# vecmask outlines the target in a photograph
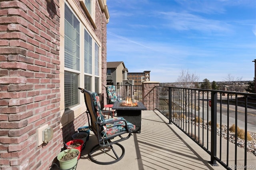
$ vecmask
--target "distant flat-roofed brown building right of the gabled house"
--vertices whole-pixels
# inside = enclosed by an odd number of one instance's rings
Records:
[[[150,81],[150,71],[127,73],[129,80],[134,80],[134,85],[142,85],[143,81]]]

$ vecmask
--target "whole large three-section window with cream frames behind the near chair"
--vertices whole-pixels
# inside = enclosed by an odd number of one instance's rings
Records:
[[[92,1],[86,0],[91,11]],[[78,87],[100,93],[100,43],[96,33],[86,30],[75,12],[65,3],[64,7],[64,107],[65,110],[80,103]],[[99,45],[98,45],[99,44]],[[75,110],[76,107],[73,109]]]

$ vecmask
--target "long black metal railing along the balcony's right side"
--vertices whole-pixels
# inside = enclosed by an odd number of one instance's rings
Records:
[[[255,93],[160,86],[155,88],[158,94],[154,99],[156,109],[206,150],[211,156],[212,165],[216,165],[217,161],[226,169],[249,167],[249,131],[254,130],[255,133],[256,129]],[[231,125],[234,126],[234,133],[229,130]],[[244,136],[239,136],[240,132]],[[229,142],[233,138],[234,141]],[[244,138],[242,152],[241,149],[238,152],[240,138]]]

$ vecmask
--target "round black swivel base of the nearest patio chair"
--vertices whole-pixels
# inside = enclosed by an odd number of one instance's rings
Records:
[[[96,163],[96,164],[101,164],[101,165],[109,165],[109,164],[114,164],[114,163],[118,162],[119,160],[121,160],[121,159],[124,157],[124,146],[122,146],[122,145],[119,144],[119,143],[116,143],[116,144],[113,144],[113,145],[117,145],[117,146],[119,146],[119,147],[122,149],[122,154],[121,154],[121,155],[118,156],[118,154],[116,153],[116,151],[115,151],[115,149],[113,148],[112,145],[110,145],[110,150],[113,151],[115,157],[114,157],[113,155],[110,155],[110,154],[108,153],[108,152],[110,152],[110,151],[104,152],[104,148],[101,147],[99,144],[97,144],[96,146],[94,146],[94,147],[92,148],[92,150],[91,150],[90,153],[88,154],[90,160],[91,160],[92,162]],[[101,150],[101,151],[100,151],[100,150]],[[99,151],[99,152],[97,152],[97,151]],[[95,152],[97,152],[97,153],[95,153]],[[95,154],[94,154],[94,153],[95,153]],[[94,154],[94,155],[93,155],[93,154]],[[101,161],[98,161],[98,160],[96,160],[95,158],[93,158],[93,157],[98,156],[98,155],[100,155],[100,154],[107,154],[108,156],[110,156],[110,157],[111,157],[112,159],[114,159],[114,160],[109,161],[109,162],[101,162]]]

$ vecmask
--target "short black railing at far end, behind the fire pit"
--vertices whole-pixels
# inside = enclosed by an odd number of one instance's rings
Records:
[[[142,102],[141,85],[115,85],[116,95],[120,99],[132,99],[134,102]]]

